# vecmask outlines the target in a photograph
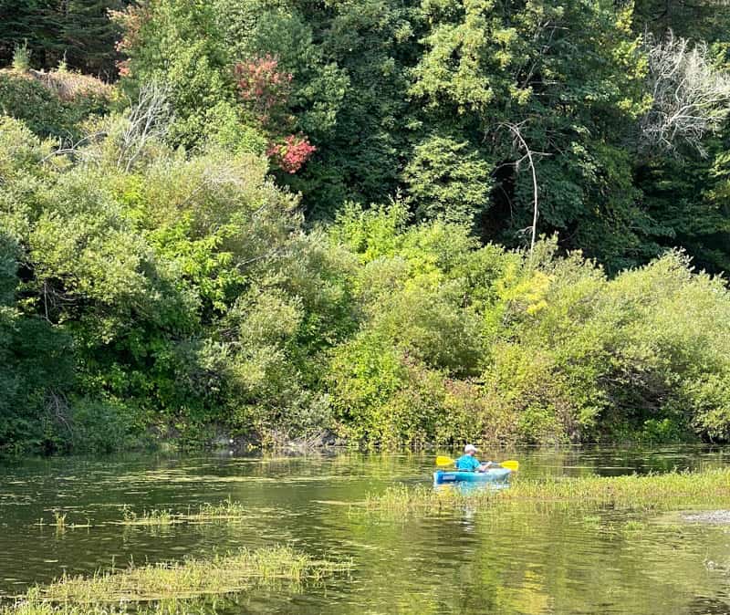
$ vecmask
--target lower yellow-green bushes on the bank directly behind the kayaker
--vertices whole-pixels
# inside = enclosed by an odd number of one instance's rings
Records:
[[[350,209],[332,230],[364,262],[352,281],[360,333],[328,377],[346,433],[391,444],[727,437],[721,279],[679,253],[609,279],[554,241],[532,255],[474,249],[463,227],[407,228],[397,212]]]

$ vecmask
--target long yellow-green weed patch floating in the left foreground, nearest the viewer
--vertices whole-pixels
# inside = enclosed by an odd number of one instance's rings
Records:
[[[191,599],[233,593],[252,585],[321,581],[350,568],[349,562],[310,558],[289,547],[241,549],[208,559],[99,571],[90,577],[65,575],[50,585],[31,589],[24,604],[30,608],[47,602],[78,605]]]

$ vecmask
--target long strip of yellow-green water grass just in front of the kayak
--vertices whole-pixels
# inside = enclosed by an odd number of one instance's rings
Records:
[[[434,490],[425,486],[396,486],[381,495],[369,495],[361,509],[398,515],[427,515],[465,507],[474,509],[516,503],[568,504],[580,508],[614,506],[637,510],[730,503],[730,468],[698,473],[517,480],[508,489],[501,490]]]

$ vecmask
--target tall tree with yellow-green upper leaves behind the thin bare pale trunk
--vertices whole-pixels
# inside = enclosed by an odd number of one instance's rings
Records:
[[[422,11],[429,28],[411,91],[424,104],[424,121],[452,126],[496,161],[483,235],[515,244],[533,226],[532,178],[514,164],[524,147],[499,130],[519,125],[538,154],[537,231],[557,230],[563,245],[611,268],[641,257],[645,215],[623,147],[645,107],[631,11],[568,2],[504,12],[487,0],[423,2]]]

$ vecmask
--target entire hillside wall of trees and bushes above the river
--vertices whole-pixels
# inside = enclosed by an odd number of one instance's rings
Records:
[[[4,3],[0,449],[730,439],[730,20],[664,6]]]

